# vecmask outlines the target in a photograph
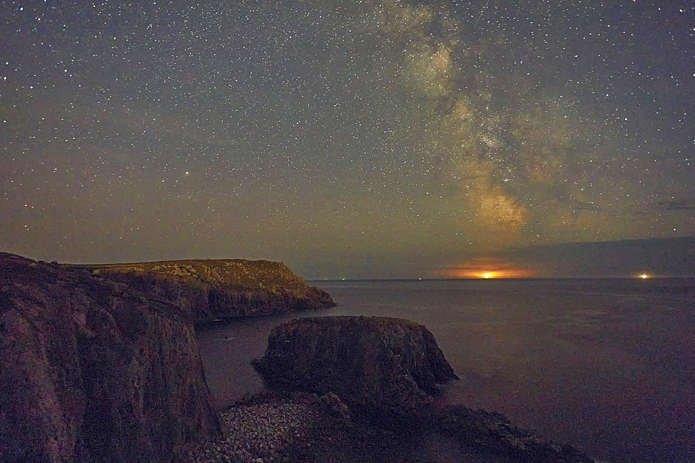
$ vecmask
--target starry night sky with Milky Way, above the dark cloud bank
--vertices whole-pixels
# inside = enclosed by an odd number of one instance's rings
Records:
[[[0,250],[429,278],[692,236],[694,101],[690,0],[3,0]]]

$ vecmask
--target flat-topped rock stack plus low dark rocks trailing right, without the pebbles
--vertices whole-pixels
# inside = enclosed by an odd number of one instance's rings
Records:
[[[306,446],[307,461],[592,462],[501,414],[443,403],[440,393],[458,378],[432,333],[411,321],[295,319],[273,328],[253,364],[279,394],[336,394],[358,420],[352,428],[345,414],[323,423],[343,431]]]

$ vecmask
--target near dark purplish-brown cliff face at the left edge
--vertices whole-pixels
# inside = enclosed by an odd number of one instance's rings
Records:
[[[184,310],[5,253],[0,385],[3,462],[184,461],[220,432]]]

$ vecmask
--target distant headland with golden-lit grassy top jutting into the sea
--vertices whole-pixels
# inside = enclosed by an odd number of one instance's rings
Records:
[[[268,260],[204,259],[68,266],[130,287],[180,308],[195,323],[334,307],[285,264]]]

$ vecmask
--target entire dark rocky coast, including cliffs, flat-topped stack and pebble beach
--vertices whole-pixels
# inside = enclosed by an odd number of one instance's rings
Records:
[[[278,326],[254,362],[269,392],[217,411],[196,323],[332,305],[278,262],[0,253],[1,460],[591,461],[442,401],[457,376],[427,328],[400,319]]]

